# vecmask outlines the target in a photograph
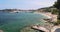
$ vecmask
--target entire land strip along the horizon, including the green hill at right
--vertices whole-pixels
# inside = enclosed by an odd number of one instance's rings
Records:
[[[51,12],[52,14],[57,14],[58,13],[58,10],[51,6],[51,7],[44,7],[44,8],[39,8],[39,9],[32,9],[32,10],[22,10],[22,9],[3,9],[3,10],[0,10],[0,11],[3,11],[3,12],[14,12],[14,11],[38,11],[38,12]]]

